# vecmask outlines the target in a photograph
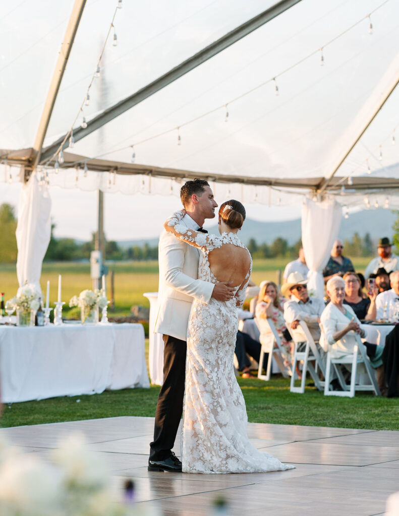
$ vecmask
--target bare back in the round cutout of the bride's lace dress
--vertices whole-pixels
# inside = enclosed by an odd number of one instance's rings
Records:
[[[231,281],[239,286],[245,280],[251,265],[247,249],[233,244],[223,244],[208,254],[210,270],[218,281]]]

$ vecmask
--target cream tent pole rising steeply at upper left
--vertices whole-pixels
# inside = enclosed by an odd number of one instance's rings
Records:
[[[36,134],[35,144],[33,146],[33,168],[35,169],[40,161],[42,146],[45,134],[49,127],[50,118],[54,109],[54,104],[57,99],[59,87],[63,80],[65,68],[72,50],[72,44],[75,39],[76,31],[78,30],[80,20],[82,18],[83,10],[85,8],[86,0],[75,0],[72,9],[71,17],[69,19],[68,27],[64,36],[64,41],[61,45],[61,50],[58,55],[57,63],[51,80],[47,99],[45,100],[44,108],[41,114],[39,127]]]

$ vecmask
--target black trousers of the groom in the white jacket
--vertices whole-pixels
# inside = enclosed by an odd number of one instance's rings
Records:
[[[187,342],[169,335],[163,335],[163,341],[163,385],[155,413],[150,460],[164,460],[169,457],[183,412]]]

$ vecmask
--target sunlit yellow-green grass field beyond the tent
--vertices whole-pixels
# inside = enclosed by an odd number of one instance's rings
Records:
[[[369,258],[352,260],[356,270],[363,272]],[[263,280],[277,280],[277,271],[284,270],[286,259],[255,260],[252,278],[259,284]],[[143,296],[144,292],[158,291],[158,262],[123,262],[108,263],[109,270],[115,275],[115,312],[113,315],[129,315],[130,307],[141,304],[149,307],[149,301]],[[45,292],[47,280],[50,280],[51,303],[56,300],[58,274],[63,276],[63,300],[66,302],[64,313],[69,310],[69,299],[79,294],[85,288],[91,288],[89,264],[60,262],[43,265],[41,276],[42,291]],[[107,288],[109,290],[109,277]],[[18,288],[16,267],[12,264],[0,264],[0,289],[5,292],[5,299],[15,295]],[[76,309],[75,309],[76,310]]]

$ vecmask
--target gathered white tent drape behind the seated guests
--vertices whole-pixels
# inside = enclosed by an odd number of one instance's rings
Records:
[[[321,272],[327,265],[332,244],[338,236],[342,206],[335,200],[312,201],[302,205],[302,245],[309,267],[308,289],[317,297],[324,296],[324,279]]]

